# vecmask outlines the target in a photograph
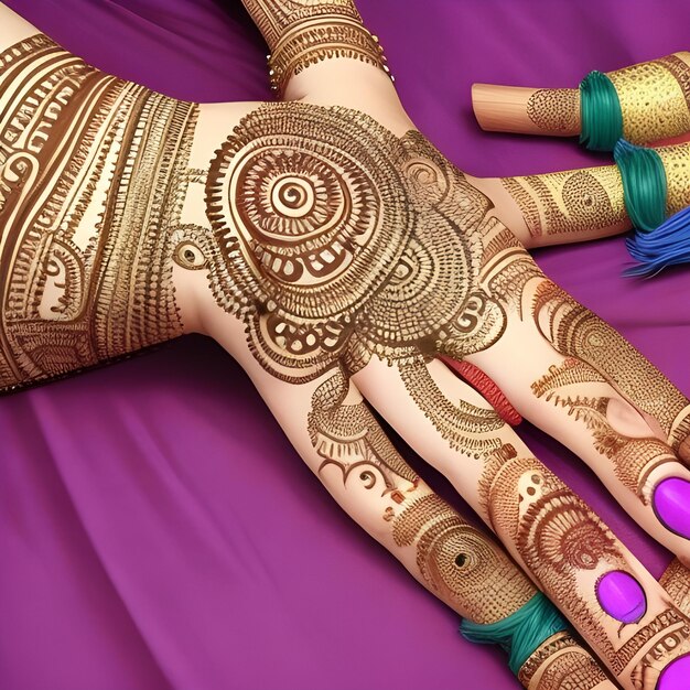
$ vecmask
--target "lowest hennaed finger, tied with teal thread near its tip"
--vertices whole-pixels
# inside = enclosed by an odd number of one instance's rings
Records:
[[[295,449],[338,505],[427,590],[479,626],[522,608],[537,590],[505,551],[438,496],[390,443],[356,387],[339,370],[312,384],[254,371]],[[568,672],[582,688],[613,688],[567,630],[537,639],[520,664],[525,687]],[[560,659],[560,660],[559,660]],[[546,682],[546,681],[545,681]]]

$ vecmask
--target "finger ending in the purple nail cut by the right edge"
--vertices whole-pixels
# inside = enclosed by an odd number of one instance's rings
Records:
[[[676,505],[690,506],[682,493],[690,470],[597,369],[556,352],[527,325],[509,324],[498,343],[470,359],[520,414],[587,463],[640,527],[690,563],[690,516]]]

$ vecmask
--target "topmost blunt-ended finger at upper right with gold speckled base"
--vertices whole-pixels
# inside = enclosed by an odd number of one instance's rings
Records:
[[[690,53],[673,53],[606,73],[622,116],[622,132],[634,143],[659,141],[690,130]],[[586,96],[585,96],[586,97]],[[578,88],[517,88],[475,84],[472,103],[482,129],[572,137],[582,133]],[[596,117],[602,117],[596,110]],[[614,138],[614,143],[615,143]],[[613,148],[613,147],[612,147]]]

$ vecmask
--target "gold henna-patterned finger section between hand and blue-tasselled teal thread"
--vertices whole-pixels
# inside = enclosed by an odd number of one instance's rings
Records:
[[[623,182],[615,165],[502,177],[532,237],[585,233],[627,219]]]

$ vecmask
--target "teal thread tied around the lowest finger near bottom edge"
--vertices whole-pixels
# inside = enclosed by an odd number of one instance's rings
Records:
[[[565,618],[541,592],[503,621],[482,625],[464,618],[460,624],[465,639],[479,645],[499,645],[505,649],[509,655],[508,666],[516,676],[539,645],[567,629]]]

